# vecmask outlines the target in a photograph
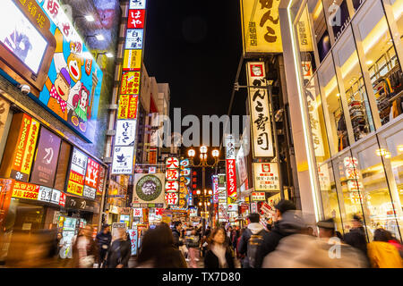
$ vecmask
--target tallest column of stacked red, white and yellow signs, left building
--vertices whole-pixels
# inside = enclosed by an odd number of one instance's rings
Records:
[[[146,0],[131,0],[124,42],[112,174],[132,174],[135,153],[137,105],[141,88],[141,64]]]

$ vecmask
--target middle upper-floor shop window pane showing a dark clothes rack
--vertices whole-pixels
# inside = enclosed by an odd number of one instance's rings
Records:
[[[354,139],[357,141],[375,129],[351,28],[335,46],[333,55],[340,69],[340,88],[344,88],[346,94]]]

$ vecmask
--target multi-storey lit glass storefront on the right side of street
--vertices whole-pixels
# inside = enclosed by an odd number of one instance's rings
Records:
[[[347,233],[359,214],[369,241],[402,234],[402,13],[403,0],[307,0],[293,19],[322,216]]]

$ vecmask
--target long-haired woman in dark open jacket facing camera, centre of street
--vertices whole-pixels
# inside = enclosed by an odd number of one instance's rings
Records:
[[[226,231],[223,228],[211,232],[204,268],[235,268],[234,257],[226,241]]]

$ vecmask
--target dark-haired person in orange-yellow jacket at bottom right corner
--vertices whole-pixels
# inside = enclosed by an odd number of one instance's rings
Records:
[[[403,268],[399,250],[390,244],[390,231],[376,229],[368,244],[368,257],[373,268]]]

